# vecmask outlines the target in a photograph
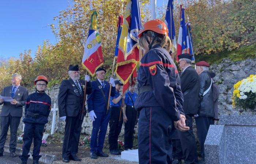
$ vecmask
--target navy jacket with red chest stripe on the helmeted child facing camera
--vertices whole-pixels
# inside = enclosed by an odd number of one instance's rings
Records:
[[[25,105],[25,118],[23,122],[46,124],[51,111],[51,98],[46,93],[32,93],[29,95]],[[39,114],[38,118],[31,117],[27,111]]]

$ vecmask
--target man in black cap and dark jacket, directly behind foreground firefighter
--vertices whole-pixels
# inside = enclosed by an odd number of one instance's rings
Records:
[[[192,55],[181,54],[178,56],[181,73],[181,90],[184,96],[183,110],[186,114],[186,125],[189,130],[185,132],[178,131],[185,164],[194,164],[197,162],[196,141],[193,133],[193,116],[197,114],[199,80],[196,70],[191,66]],[[181,161],[180,161],[181,163]]]

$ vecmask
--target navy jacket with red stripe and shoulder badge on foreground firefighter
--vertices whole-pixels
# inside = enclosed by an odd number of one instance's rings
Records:
[[[138,71],[138,87],[150,85],[153,90],[139,93],[135,101],[136,110],[161,106],[173,121],[179,120],[184,111],[183,95],[177,79],[178,71],[169,52],[156,44],[143,56]]]

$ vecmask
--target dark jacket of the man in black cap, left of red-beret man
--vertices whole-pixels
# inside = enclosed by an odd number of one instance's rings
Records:
[[[181,73],[181,90],[184,96],[183,110],[186,114],[197,114],[199,80],[196,70],[189,66]]]

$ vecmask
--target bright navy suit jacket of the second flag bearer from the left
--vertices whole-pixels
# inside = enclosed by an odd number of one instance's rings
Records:
[[[91,82],[92,90],[91,94],[89,94],[87,97],[87,108],[89,112],[91,110],[94,110],[94,112],[103,113],[106,112],[107,109],[106,102],[108,102],[110,85],[109,82],[104,80],[105,89],[102,88],[105,93],[104,100],[104,97],[101,93],[101,90],[99,89],[97,81],[98,79],[96,79],[96,81]],[[110,96],[114,97],[115,92],[116,87],[112,87]]]

